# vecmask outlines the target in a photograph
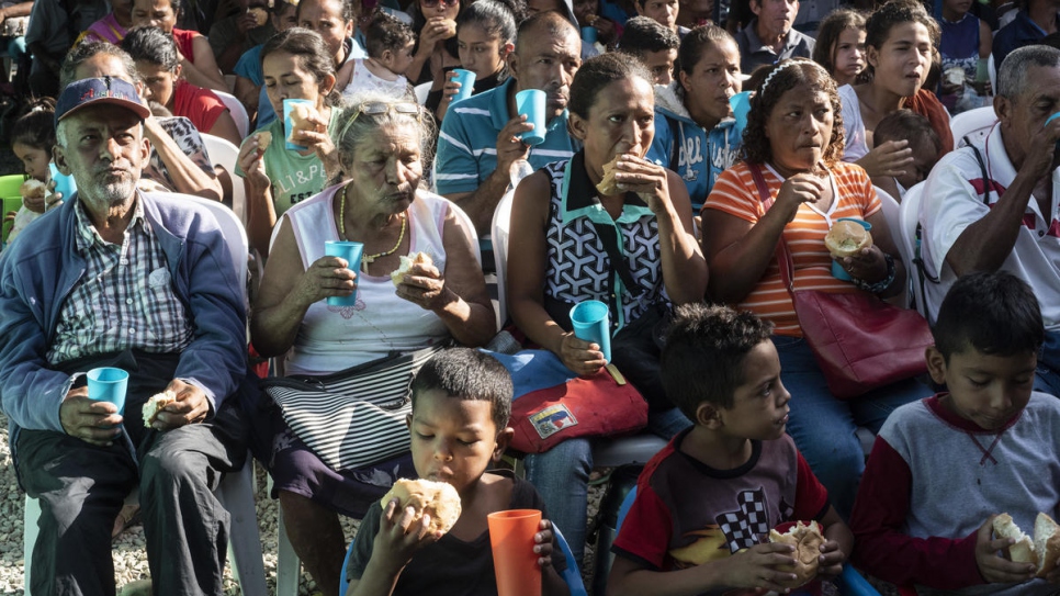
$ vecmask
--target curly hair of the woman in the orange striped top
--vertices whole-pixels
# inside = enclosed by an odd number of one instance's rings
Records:
[[[817,63],[808,58],[792,58],[777,63],[755,88],[751,98],[751,113],[744,130],[743,160],[748,164],[765,164],[773,160],[773,147],[766,137],[766,121],[785,92],[800,85],[808,85],[812,91],[824,91],[832,103],[832,138],[824,149],[825,165],[832,167],[843,157],[843,109],[835,80]]]

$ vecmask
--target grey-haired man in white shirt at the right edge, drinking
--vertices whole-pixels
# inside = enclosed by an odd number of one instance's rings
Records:
[[[1060,119],[1046,124],[1060,112],[1060,50],[1035,45],[1010,54],[994,111],[999,122],[985,142],[945,156],[926,181],[920,223],[928,319],[958,277],[1012,272],[1034,289],[1046,324],[1035,389],[1060,395]]]

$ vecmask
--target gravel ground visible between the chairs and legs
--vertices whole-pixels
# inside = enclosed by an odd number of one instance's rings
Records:
[[[266,580],[269,594],[275,594],[277,575],[277,507],[278,502],[268,498],[264,487],[264,473],[258,468],[259,480],[255,495],[258,504],[258,530],[261,533],[262,551],[264,552]],[[23,596],[23,558],[22,558],[22,509],[25,495],[18,490],[14,466],[11,463],[11,452],[8,448],[8,419],[0,415],[0,595]],[[590,518],[597,513],[604,491],[599,486],[590,486],[588,510]],[[357,529],[357,521],[343,518],[347,539],[352,539]],[[137,580],[150,577],[147,566],[147,554],[144,551],[144,528],[134,526],[114,541],[112,549],[114,558],[114,574],[117,586],[124,586]],[[586,570],[593,570],[594,552],[591,546],[586,548],[583,575]],[[225,571],[225,594],[241,594],[230,569]],[[873,582],[883,596],[897,595],[893,587]],[[591,586],[591,578],[586,577],[586,586]],[[302,575],[298,591],[301,596],[315,593],[315,585],[307,575]],[[253,595],[259,596],[259,595]],[[267,596],[267,595],[260,595]]]

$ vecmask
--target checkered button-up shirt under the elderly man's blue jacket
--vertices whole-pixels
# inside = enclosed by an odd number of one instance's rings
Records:
[[[143,200],[136,199],[121,245],[103,240],[81,203],[75,205],[75,238],[86,270],[63,304],[48,362],[129,348],[179,352],[191,344],[191,322],[173,293]]]

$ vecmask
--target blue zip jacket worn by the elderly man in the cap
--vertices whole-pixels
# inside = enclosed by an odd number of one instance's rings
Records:
[[[210,212],[179,194],[139,193],[139,200],[194,326],[174,376],[202,389],[216,413],[246,375],[244,282]],[[67,201],[44,214],[0,252],[0,409],[12,446],[20,428],[64,431],[59,405],[80,375],[52,370],[46,360],[63,303],[86,270],[74,206]]]

